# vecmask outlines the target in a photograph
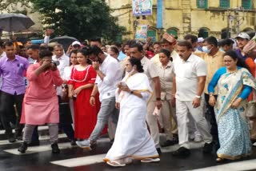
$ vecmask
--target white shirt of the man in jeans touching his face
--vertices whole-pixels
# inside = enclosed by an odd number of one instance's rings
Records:
[[[98,85],[99,100],[114,97],[117,84],[122,80],[122,70],[118,61],[107,55],[99,70],[106,75],[102,79],[97,75],[95,84]]]

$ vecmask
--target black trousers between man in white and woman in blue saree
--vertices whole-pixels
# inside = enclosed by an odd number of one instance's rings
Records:
[[[217,99],[217,96],[214,96]],[[213,136],[213,141],[218,142],[218,125],[214,113],[214,107],[209,104],[209,94],[205,93],[206,99],[206,119],[210,121],[210,134]]]

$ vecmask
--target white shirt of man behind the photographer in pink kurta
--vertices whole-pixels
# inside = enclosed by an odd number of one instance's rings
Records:
[[[59,74],[61,75],[62,79],[64,79],[64,69],[66,66],[70,66],[70,58],[65,54],[63,54],[60,58],[56,58],[56,55],[54,55],[52,59],[54,61],[59,62],[59,65],[57,66],[57,68],[59,70]],[[57,90],[57,95],[62,96],[62,86],[58,86],[56,90]]]

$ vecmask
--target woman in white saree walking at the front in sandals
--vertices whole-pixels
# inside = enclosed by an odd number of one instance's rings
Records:
[[[146,126],[146,103],[151,97],[150,82],[136,58],[126,63],[129,73],[118,84],[116,107],[120,107],[114,144],[104,161],[112,166],[125,166],[133,159],[160,161],[154,141]]]

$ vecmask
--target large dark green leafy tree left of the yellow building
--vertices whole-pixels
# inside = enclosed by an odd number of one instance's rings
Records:
[[[125,29],[115,24],[104,0],[30,0],[42,14],[42,24],[80,40],[103,37],[114,40]]]

